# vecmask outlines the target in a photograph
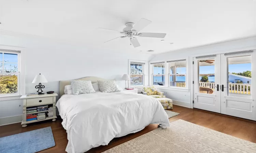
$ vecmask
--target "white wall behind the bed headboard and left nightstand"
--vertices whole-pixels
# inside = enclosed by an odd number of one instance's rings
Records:
[[[49,87],[46,91],[59,94],[59,81],[72,80],[88,76],[105,79],[120,79],[128,73],[128,60],[148,61],[149,54],[140,52],[119,52],[104,48],[88,48],[77,45],[67,45],[52,39],[28,35],[1,35],[1,45],[25,47],[26,56],[26,94],[37,90],[32,84],[36,74],[44,74]],[[125,87],[125,81],[120,81],[120,87]],[[57,97],[58,100],[59,97]],[[8,100],[0,102],[0,118],[22,115],[22,101]]]

